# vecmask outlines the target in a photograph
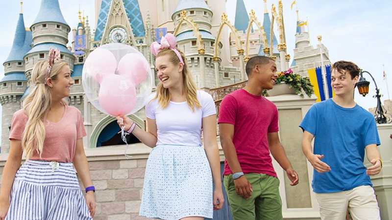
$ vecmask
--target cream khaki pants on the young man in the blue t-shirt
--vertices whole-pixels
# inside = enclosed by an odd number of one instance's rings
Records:
[[[374,189],[358,186],[337,193],[316,193],[321,220],[343,220],[348,211],[353,220],[380,220]]]

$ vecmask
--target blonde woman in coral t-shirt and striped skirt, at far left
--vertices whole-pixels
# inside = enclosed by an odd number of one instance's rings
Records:
[[[86,132],[80,111],[65,99],[73,79],[59,50],[51,48],[49,59],[34,66],[31,81],[34,87],[11,122],[0,220],[92,220],[95,189],[83,149]]]

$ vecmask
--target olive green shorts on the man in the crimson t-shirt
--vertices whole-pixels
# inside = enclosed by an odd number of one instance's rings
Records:
[[[223,176],[233,220],[283,220],[279,179],[266,174],[245,174],[252,185],[247,200],[236,193],[233,175]]]

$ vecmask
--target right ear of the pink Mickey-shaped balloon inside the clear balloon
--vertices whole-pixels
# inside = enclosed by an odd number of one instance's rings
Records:
[[[139,85],[146,79],[148,68],[146,58],[137,53],[128,53],[120,60],[119,74],[131,77],[135,85]]]

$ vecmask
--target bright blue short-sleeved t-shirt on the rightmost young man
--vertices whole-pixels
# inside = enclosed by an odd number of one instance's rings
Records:
[[[331,167],[326,173],[314,170],[313,192],[335,193],[372,186],[364,166],[365,147],[380,145],[380,139],[370,112],[358,105],[346,109],[328,99],[314,104],[299,127],[315,136],[313,153],[324,155],[321,161]]]

